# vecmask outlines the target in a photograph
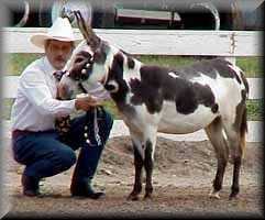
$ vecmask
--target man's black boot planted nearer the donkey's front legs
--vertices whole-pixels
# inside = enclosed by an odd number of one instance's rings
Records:
[[[90,199],[99,199],[104,197],[104,193],[95,191],[91,186],[91,179],[87,182],[73,179],[70,185],[71,196],[86,197]]]

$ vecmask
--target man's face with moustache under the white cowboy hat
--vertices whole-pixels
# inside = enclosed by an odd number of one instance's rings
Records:
[[[52,66],[63,69],[74,48],[73,42],[48,40],[45,44],[45,54]]]

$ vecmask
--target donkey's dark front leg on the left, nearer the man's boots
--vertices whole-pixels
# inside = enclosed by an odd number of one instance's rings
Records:
[[[139,200],[139,195],[142,191],[142,168],[143,168],[143,157],[139,152],[139,147],[133,141],[133,153],[134,153],[134,186],[132,193],[129,195],[128,200]]]

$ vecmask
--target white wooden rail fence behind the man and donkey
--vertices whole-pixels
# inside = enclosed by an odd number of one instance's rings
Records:
[[[236,56],[262,56],[262,32],[175,30],[95,31],[101,38],[131,54],[224,56],[232,61],[235,61]],[[30,43],[30,36],[46,32],[45,28],[4,28],[1,32],[4,53],[43,53],[43,51]],[[75,29],[75,35],[77,38],[81,38],[81,34],[77,29]],[[247,80],[250,82],[250,99],[263,98],[263,78],[249,78]],[[5,76],[3,85],[3,97],[15,98],[18,77]],[[249,132],[249,141],[262,141],[262,123],[257,123],[257,128],[253,125],[255,122],[250,123],[252,125]],[[128,132],[125,133],[128,134]],[[199,139],[191,138],[191,140],[200,140],[201,135],[203,136],[201,131],[198,135],[200,136]]]

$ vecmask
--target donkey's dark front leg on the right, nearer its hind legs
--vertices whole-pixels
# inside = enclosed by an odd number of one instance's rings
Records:
[[[146,173],[146,185],[145,185],[145,195],[144,199],[151,199],[153,193],[153,185],[152,185],[152,174],[154,167],[154,143],[150,140],[145,143],[145,157],[144,157],[144,168]]]

